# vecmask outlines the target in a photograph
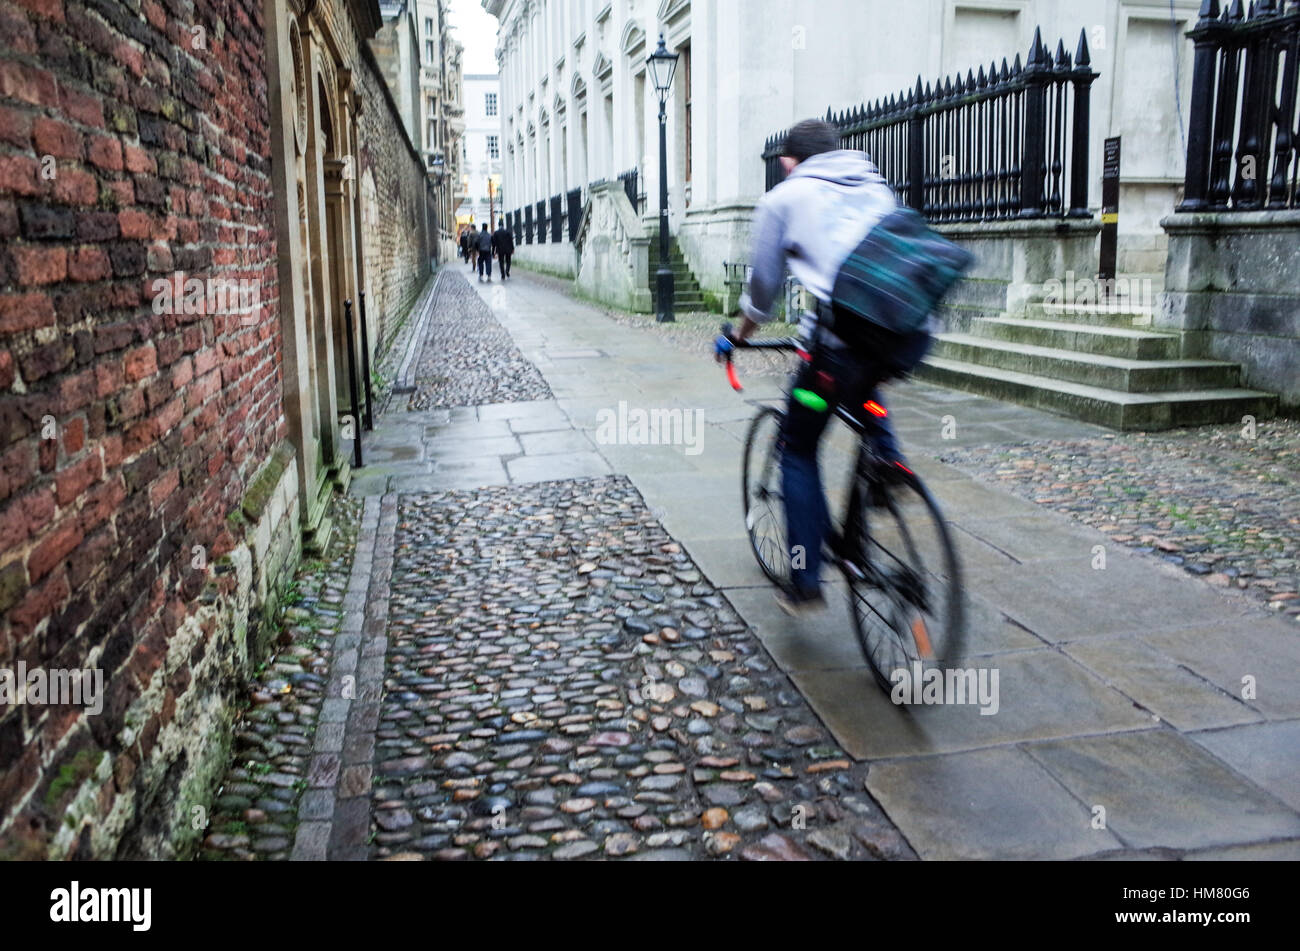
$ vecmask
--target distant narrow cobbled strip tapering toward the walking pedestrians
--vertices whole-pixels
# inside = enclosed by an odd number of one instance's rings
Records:
[[[434,307],[408,409],[551,399],[542,374],[455,265],[443,269]]]

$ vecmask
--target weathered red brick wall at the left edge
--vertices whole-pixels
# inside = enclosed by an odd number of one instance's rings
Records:
[[[220,579],[194,547],[230,551],[226,514],[286,434],[261,16],[0,0],[0,668],[98,657],[107,689],[100,716],[0,711],[0,828],[36,847],[61,767],[112,757],[101,813],[148,799],[138,768],[177,699],[217,689],[191,682],[211,638],[168,656]],[[260,308],[155,313],[176,270],[257,281]],[[124,733],[160,669],[161,703]]]

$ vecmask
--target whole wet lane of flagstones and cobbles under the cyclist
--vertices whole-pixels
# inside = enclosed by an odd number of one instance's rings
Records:
[[[1204,446],[1115,438],[896,388],[913,465],[957,529],[971,663],[1002,674],[1000,716],[900,709],[862,665],[838,586],[792,621],[748,550],[740,447],[754,404],[780,392],[770,368],[741,366],[737,399],[689,348],[696,331],[664,349],[658,329],[526,273],[474,287],[443,269],[428,321],[407,351],[411,403],[367,434],[335,507],[344,530],[300,573],[205,856],[1296,856],[1294,630],[1251,590],[1139,544],[1192,553],[1183,522],[1114,501],[1124,472],[1147,473],[1150,504],[1236,486],[1234,511],[1264,516],[1251,537],[1274,547],[1253,568],[1218,563],[1280,591],[1290,424],[1261,425],[1247,490],[1217,430]],[[699,451],[599,438],[620,400],[698,408]],[[826,464],[848,450],[832,434]],[[1118,543],[1106,572],[1088,566],[1098,540]],[[1240,695],[1243,673],[1257,695]]]

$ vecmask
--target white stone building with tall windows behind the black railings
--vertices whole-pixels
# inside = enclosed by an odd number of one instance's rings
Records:
[[[764,139],[926,79],[1026,57],[1035,27],[1092,68],[1089,204],[1123,136],[1121,270],[1158,274],[1182,186],[1199,0],[482,0],[500,23],[507,209],[638,169],[658,213],[658,100],[646,56],[681,55],[668,101],[670,227],[698,282],[748,252]],[[549,249],[549,248],[547,248]],[[521,255],[526,260],[526,253]]]

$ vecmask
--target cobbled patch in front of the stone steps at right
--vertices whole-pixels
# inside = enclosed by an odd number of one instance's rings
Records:
[[[941,456],[1121,544],[1300,620],[1300,422],[979,447]]]

